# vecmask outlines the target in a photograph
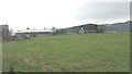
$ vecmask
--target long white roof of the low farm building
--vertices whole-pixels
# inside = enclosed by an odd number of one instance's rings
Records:
[[[16,33],[52,33],[50,29],[24,29]]]

